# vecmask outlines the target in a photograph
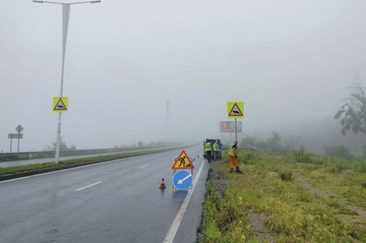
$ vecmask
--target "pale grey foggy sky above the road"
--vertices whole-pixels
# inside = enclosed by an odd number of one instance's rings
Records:
[[[178,99],[172,142],[186,142],[187,117],[190,142],[228,139],[219,132],[228,101],[244,101],[244,133],[306,134],[344,104],[355,69],[366,77],[365,9],[363,0],[72,5],[61,136],[78,149],[165,141],[158,99]],[[0,0],[0,151],[18,124],[21,151],[56,139],[61,20],[61,5]]]

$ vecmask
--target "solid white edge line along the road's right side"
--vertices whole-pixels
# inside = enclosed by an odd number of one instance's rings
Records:
[[[187,208],[187,206],[188,206],[189,200],[191,199],[191,196],[192,196],[192,193],[193,193],[193,191],[194,191],[194,188],[195,188],[195,187],[196,187],[196,185],[197,185],[199,175],[201,175],[201,171],[202,171],[202,168],[203,168],[203,165],[204,165],[204,164],[205,164],[205,163],[204,163],[204,161],[202,161],[201,167],[199,167],[199,170],[198,170],[197,176],[196,176],[196,178],[194,179],[194,182],[193,182],[193,188],[192,188],[192,190],[188,191],[188,194],[187,194],[186,198],[184,199],[183,204],[182,204],[182,206],[180,207],[180,209],[179,209],[179,211],[178,211],[178,214],[177,214],[177,216],[175,217],[174,222],[173,222],[172,226],[170,227],[170,229],[169,229],[169,232],[168,232],[167,236],[165,237],[164,243],[172,243],[172,242],[173,242],[174,237],[175,237],[175,234],[176,234],[176,233],[177,233],[177,231],[178,231],[178,228],[179,228],[180,222],[182,221],[182,218],[183,218],[184,212],[186,212],[186,208]]]

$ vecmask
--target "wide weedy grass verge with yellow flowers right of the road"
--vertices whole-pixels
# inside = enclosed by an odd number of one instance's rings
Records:
[[[239,175],[229,173],[225,158],[220,169],[229,178],[225,195],[207,184],[202,242],[272,242],[258,236],[253,214],[273,242],[366,242],[363,162],[322,160],[241,151]],[[345,173],[350,168],[354,171]]]

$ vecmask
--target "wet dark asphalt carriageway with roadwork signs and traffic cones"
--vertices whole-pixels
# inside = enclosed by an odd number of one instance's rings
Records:
[[[180,152],[0,183],[0,242],[163,243],[188,193],[172,190],[171,167]],[[194,161],[193,177],[202,164],[203,169],[175,243],[197,241],[206,192],[208,163],[202,146],[186,152],[201,157]],[[158,188],[162,177],[165,190]]]

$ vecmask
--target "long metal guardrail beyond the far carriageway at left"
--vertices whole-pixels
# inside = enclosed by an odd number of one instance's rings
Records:
[[[174,147],[178,146],[174,144]],[[79,150],[61,150],[60,157],[65,156],[76,156],[76,155],[87,155],[87,154],[106,154],[106,153],[118,153],[118,152],[129,152],[137,150],[150,150],[160,149],[166,146],[145,146],[145,147],[122,147],[122,148],[111,148],[111,149],[79,149]],[[0,162],[15,161],[15,160],[30,160],[37,158],[50,158],[55,156],[56,151],[38,151],[38,152],[19,152],[19,153],[0,153]]]

